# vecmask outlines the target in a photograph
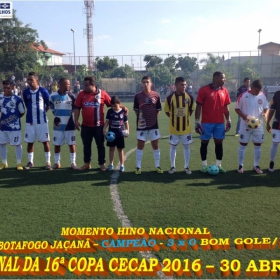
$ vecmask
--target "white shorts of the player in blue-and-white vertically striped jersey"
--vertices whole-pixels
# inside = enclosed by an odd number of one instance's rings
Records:
[[[36,139],[39,142],[49,142],[50,134],[47,123],[42,124],[25,124],[24,141],[34,143]]]

